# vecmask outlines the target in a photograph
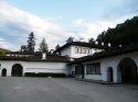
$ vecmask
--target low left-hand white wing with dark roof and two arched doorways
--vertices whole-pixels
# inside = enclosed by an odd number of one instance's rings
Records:
[[[28,73],[62,73],[68,76],[68,57],[54,54],[10,53],[0,58],[0,75],[21,77]]]

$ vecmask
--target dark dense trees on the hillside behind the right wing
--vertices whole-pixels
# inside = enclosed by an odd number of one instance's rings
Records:
[[[108,29],[97,36],[97,41],[112,43],[112,46],[138,43],[138,16],[117,24],[115,29]]]

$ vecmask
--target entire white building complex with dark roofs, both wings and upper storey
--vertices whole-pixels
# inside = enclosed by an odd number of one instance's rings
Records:
[[[106,49],[104,45],[72,42],[56,54],[11,53],[0,58],[1,76],[64,73],[106,82],[138,82],[138,48]]]

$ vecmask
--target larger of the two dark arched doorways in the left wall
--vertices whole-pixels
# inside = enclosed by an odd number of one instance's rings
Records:
[[[20,64],[15,64],[15,65],[12,66],[11,76],[22,77],[22,73],[23,73],[23,68]]]

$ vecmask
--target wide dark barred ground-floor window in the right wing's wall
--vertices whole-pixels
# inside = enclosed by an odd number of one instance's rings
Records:
[[[100,64],[88,64],[86,65],[86,75],[100,75]]]

